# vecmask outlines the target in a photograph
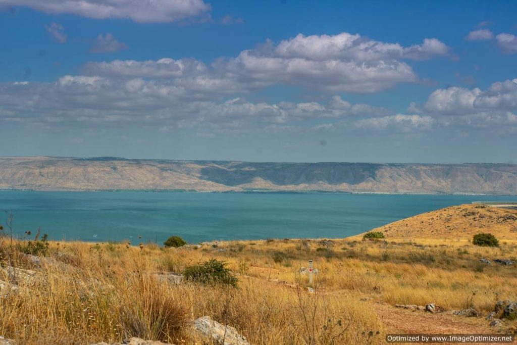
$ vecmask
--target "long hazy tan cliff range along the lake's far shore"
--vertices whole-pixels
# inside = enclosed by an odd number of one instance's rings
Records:
[[[250,163],[0,157],[0,188],[517,194],[517,164]]]

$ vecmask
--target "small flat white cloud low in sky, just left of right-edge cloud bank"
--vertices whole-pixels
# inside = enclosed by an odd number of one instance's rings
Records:
[[[410,133],[430,130],[433,124],[434,119],[431,116],[397,114],[361,119],[355,123],[355,126],[378,131]]]

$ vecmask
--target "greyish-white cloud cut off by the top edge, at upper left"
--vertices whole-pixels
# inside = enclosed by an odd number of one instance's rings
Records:
[[[0,0],[0,5],[95,19],[128,18],[141,23],[173,22],[210,10],[203,0]]]

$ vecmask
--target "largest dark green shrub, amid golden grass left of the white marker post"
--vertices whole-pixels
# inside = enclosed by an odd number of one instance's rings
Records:
[[[237,286],[237,278],[232,271],[226,268],[224,261],[211,259],[203,264],[185,268],[184,276],[186,280],[199,282],[202,284],[227,284]]]

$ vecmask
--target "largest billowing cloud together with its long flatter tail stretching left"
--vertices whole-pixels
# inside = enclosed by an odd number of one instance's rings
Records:
[[[207,66],[193,59],[89,63],[89,74],[141,78],[192,78],[253,89],[274,84],[302,85],[330,92],[370,93],[418,77],[403,59],[444,56],[448,48],[437,39],[402,47],[359,35],[303,36],[277,45],[242,51]],[[186,80],[185,80],[186,82]]]

